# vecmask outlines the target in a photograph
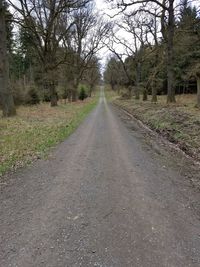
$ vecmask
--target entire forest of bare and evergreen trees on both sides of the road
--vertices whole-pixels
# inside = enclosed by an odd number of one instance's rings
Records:
[[[0,2],[0,103],[15,106],[91,96],[102,80],[101,50],[110,51],[104,82],[124,97],[157,102],[197,94],[200,107],[200,16],[197,1],[92,0]],[[107,53],[108,55],[108,53]],[[82,89],[80,89],[82,88]],[[118,88],[118,89],[116,89]],[[80,96],[82,91],[82,96]]]

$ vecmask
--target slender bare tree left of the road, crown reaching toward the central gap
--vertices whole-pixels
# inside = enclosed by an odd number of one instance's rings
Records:
[[[104,22],[94,6],[86,5],[73,13],[74,25],[66,43],[72,51],[70,67],[73,68],[72,101],[77,99],[77,90],[84,72],[90,68],[90,63],[97,52],[104,46],[103,39],[110,30],[109,23]]]

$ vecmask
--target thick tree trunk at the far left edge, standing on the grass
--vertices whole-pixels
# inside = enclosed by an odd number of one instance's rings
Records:
[[[9,65],[6,46],[5,10],[0,0],[0,98],[3,107],[3,116],[10,117],[16,114],[13,95],[9,86]]]

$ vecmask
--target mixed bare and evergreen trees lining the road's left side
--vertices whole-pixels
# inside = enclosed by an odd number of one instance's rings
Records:
[[[93,0],[0,0],[0,103],[76,101],[80,84],[91,95],[100,80],[98,51],[110,24]]]

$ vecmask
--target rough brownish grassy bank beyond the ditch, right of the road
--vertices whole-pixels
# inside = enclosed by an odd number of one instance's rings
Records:
[[[112,97],[116,105],[200,160],[200,110],[195,108],[196,96],[180,95],[176,99],[176,104],[167,105],[166,96],[159,96],[156,104]]]

